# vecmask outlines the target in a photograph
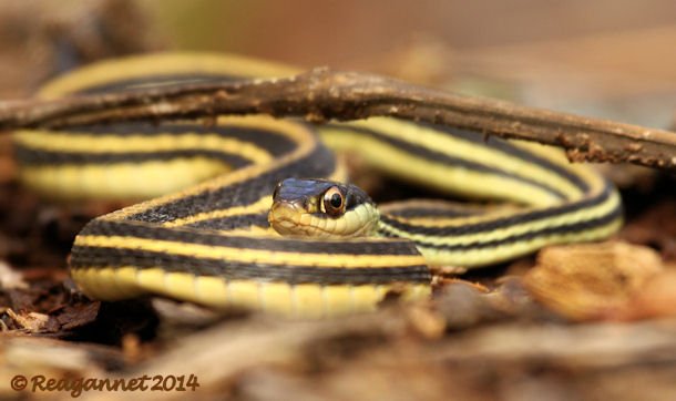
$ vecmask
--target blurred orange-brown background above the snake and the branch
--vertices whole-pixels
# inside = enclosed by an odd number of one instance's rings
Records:
[[[369,70],[667,127],[669,0],[22,0],[0,3],[0,96],[98,59],[165,50]]]

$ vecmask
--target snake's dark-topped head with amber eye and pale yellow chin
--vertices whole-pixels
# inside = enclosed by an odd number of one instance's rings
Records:
[[[280,182],[268,214],[277,233],[317,238],[369,236],[379,219],[376,205],[361,188],[327,179]]]

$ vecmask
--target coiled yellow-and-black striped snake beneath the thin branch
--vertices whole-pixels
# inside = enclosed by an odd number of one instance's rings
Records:
[[[298,71],[234,54],[150,53],[70,71],[38,96]],[[429,299],[431,267],[602,240],[623,222],[616,187],[560,150],[391,117],[313,125],[222,115],[12,137],[30,189],[127,205],[88,223],[69,258],[79,288],[104,301],[154,295],[300,319],[367,312],[389,295]],[[440,196],[377,206],[347,183],[345,153]]]

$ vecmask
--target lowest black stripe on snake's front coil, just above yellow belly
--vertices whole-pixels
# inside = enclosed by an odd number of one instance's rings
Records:
[[[188,256],[167,255],[136,249],[103,247],[74,247],[72,268],[135,266],[140,269],[161,266],[165,271],[191,271],[195,276],[223,277],[226,279],[255,279],[257,281],[283,281],[288,284],[362,285],[397,281],[430,281],[427,266],[388,268],[341,268],[279,266],[268,264],[239,264],[218,259],[199,259]]]

